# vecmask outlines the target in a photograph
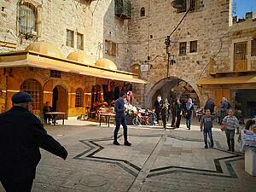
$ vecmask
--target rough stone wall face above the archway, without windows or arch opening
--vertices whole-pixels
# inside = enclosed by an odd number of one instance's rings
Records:
[[[166,36],[171,36],[171,54],[176,63],[170,66],[169,76],[188,82],[202,102],[207,99],[196,81],[208,76],[208,63],[213,58],[218,70],[229,70],[229,1],[203,0],[201,8],[189,12],[172,33],[185,13],[178,13],[170,1],[132,0],[129,21],[130,55],[132,63],[148,64],[141,77],[147,79],[143,96],[154,95],[154,86],[166,79]],[[140,16],[140,9],[146,15]],[[197,40],[197,52],[189,53],[189,41]],[[187,54],[179,55],[179,43],[187,42]],[[150,60],[148,61],[148,56]],[[168,91],[168,90],[166,90]],[[137,97],[143,97],[137,96]],[[146,101],[146,99],[142,100]],[[139,101],[141,102],[141,101]],[[151,101],[144,103],[149,107]]]

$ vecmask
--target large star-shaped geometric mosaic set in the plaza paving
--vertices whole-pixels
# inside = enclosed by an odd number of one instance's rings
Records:
[[[122,136],[119,137],[122,138]],[[161,134],[130,135],[130,142],[136,141],[130,148],[113,145],[112,137],[81,140],[80,142],[84,143],[86,149],[74,159],[114,164],[137,177],[161,137],[163,137]],[[216,148],[205,149],[202,140],[169,135],[161,146],[147,177],[173,172],[189,172],[195,175],[236,178],[237,175],[231,162],[242,160],[243,157],[241,154],[220,149],[218,141],[215,142],[215,146]]]

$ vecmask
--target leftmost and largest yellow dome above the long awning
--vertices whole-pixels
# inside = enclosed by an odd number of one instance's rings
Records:
[[[32,50],[45,55],[64,58],[61,50],[58,49],[54,44],[51,44],[49,42],[39,41],[32,43],[26,47],[26,50]]]

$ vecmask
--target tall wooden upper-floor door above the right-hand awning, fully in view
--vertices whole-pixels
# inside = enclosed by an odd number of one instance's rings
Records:
[[[247,71],[247,42],[234,44],[234,71]]]

